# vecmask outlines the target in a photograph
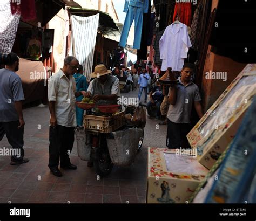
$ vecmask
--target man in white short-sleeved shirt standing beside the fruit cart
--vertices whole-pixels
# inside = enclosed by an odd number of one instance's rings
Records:
[[[48,99],[50,109],[50,146],[49,164],[55,176],[62,176],[58,169],[77,169],[70,163],[69,155],[73,148],[76,122],[76,97],[85,95],[85,91],[76,91],[76,81],[73,78],[79,66],[78,60],[73,56],[64,59],[64,66],[52,75],[48,84]]]

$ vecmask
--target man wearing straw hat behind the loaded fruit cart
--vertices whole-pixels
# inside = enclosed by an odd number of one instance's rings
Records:
[[[90,82],[85,96],[95,100],[96,105],[117,104],[120,96],[119,79],[110,73],[103,64],[97,65],[95,72],[91,73],[91,78],[95,79]],[[93,161],[88,161],[87,167],[93,167]]]

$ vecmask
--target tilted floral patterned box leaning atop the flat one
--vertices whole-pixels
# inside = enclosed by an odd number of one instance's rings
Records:
[[[237,133],[256,94],[256,64],[248,64],[187,134],[198,161],[211,169]]]

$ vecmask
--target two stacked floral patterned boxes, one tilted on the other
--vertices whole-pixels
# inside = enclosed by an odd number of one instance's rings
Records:
[[[149,148],[147,203],[188,203],[233,140],[255,94],[256,64],[248,64],[188,133],[193,151]]]

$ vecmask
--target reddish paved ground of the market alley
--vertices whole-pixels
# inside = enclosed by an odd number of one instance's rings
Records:
[[[138,91],[122,93],[137,97]],[[142,98],[144,94],[142,95]],[[147,120],[143,148],[130,167],[114,166],[111,174],[99,181],[93,168],[77,155],[76,141],[71,153],[75,171],[62,170],[55,177],[48,168],[48,107],[24,109],[25,157],[30,162],[10,165],[9,156],[0,156],[0,203],[145,203],[147,183],[147,147],[165,148],[167,126]],[[0,148],[10,145],[4,137]]]

